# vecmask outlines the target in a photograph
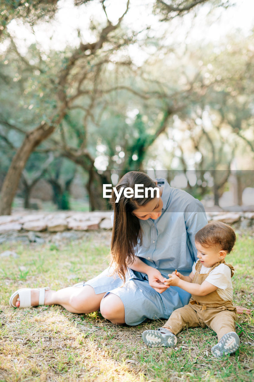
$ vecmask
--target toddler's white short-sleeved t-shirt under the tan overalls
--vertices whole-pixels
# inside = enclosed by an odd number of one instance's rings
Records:
[[[193,264],[192,272],[195,275],[195,266],[198,261]],[[199,273],[208,273],[211,268],[204,267],[202,265]],[[206,281],[210,284],[217,286],[217,293],[224,301],[231,301],[233,299],[233,287],[231,282],[231,270],[226,264],[220,264],[211,270],[207,276]]]

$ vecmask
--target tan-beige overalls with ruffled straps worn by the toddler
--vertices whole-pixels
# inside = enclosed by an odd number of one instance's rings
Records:
[[[226,264],[225,261],[216,263],[209,273],[222,263]],[[226,265],[230,267],[232,277],[234,268],[230,264]],[[202,264],[198,261],[192,283],[201,285],[209,275],[209,273],[200,274],[201,267]],[[217,333],[218,340],[220,340],[224,334],[235,332],[235,321],[236,308],[232,301],[224,301],[215,290],[206,296],[191,295],[189,304],[176,309],[163,327],[177,334],[186,326],[189,328],[208,326]]]

